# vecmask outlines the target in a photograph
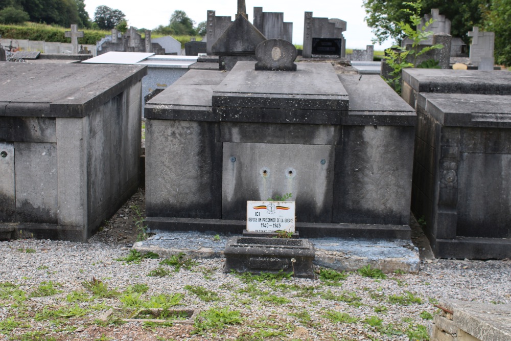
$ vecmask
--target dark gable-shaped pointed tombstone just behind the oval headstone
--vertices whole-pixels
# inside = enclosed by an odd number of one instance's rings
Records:
[[[238,13],[236,20],[211,47],[219,56],[220,70],[231,70],[238,61],[255,61],[255,48],[266,37],[245,16]]]

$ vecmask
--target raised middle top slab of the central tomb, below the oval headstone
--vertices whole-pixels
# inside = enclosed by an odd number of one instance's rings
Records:
[[[297,64],[295,72],[265,72],[255,71],[253,62],[238,62],[213,94],[213,106],[242,107],[247,116],[261,108],[345,110],[347,102],[346,90],[329,63]]]

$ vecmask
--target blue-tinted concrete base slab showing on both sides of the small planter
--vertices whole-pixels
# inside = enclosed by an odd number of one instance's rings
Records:
[[[148,240],[137,242],[133,248],[138,252],[155,252],[160,257],[170,257],[179,252],[193,258],[224,257],[227,239],[233,235],[201,232],[162,232]],[[368,241],[353,239],[309,239],[316,249],[315,265],[352,271],[370,264],[384,272],[419,270],[419,251],[408,241]]]

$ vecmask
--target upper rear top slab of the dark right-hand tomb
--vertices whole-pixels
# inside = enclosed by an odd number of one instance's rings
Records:
[[[403,83],[420,93],[511,95],[511,72],[404,69]]]

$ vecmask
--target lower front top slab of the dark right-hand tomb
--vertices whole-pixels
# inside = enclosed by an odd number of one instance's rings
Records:
[[[419,94],[417,109],[427,108],[443,126],[511,127],[511,96],[480,94]]]

